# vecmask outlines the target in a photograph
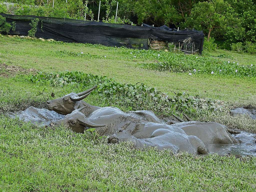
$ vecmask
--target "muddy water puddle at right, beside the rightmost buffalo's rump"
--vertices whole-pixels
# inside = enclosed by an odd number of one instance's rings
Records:
[[[239,140],[240,144],[210,144],[206,145],[206,147],[210,153],[217,153],[219,155],[233,154],[256,156],[256,134],[241,132],[232,136]]]

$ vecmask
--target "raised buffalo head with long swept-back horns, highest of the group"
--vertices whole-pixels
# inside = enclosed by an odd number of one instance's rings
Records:
[[[74,110],[74,106],[78,106],[97,86],[83,91],[81,93],[69,93],[62,98],[47,101],[47,107],[59,114],[67,115]]]

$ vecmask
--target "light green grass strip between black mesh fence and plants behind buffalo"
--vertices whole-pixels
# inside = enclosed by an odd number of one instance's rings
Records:
[[[82,71],[105,75],[121,83],[145,83],[168,94],[173,94],[174,91],[186,92],[232,103],[248,103],[255,98],[256,93],[254,78],[221,77],[211,74],[189,76],[187,73],[142,69],[139,67],[140,63],[153,61],[130,55],[130,51],[135,54],[136,50],[6,37],[1,38],[0,45],[0,62],[36,68],[44,72]],[[84,55],[90,55],[65,56],[58,55],[59,51],[83,52]]]

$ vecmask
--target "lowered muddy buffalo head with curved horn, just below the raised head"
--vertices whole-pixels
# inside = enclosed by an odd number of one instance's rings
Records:
[[[88,127],[104,127],[106,125],[95,124],[86,118],[86,116],[78,110],[73,111],[71,114],[66,115],[65,119],[51,121],[50,126],[60,126],[71,128],[72,131],[77,133],[83,133]]]

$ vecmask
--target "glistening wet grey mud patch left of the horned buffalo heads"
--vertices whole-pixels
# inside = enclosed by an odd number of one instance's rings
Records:
[[[7,115],[11,118],[18,117],[20,120],[31,122],[33,124],[37,124],[38,126],[49,125],[52,120],[60,120],[65,118],[65,115],[58,114],[55,111],[35,107],[29,107],[24,111],[8,112]]]

